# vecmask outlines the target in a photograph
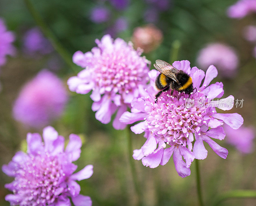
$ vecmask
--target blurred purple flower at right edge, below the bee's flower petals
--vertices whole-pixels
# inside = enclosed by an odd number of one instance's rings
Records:
[[[240,127],[234,130],[230,127],[225,127],[226,142],[233,145],[241,153],[251,153],[254,149],[253,140],[255,139],[255,130],[253,127]]]

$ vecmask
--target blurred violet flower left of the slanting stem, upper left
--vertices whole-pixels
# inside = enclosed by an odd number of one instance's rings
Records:
[[[39,28],[29,29],[23,37],[24,53],[30,56],[53,52],[52,44],[44,37]]]

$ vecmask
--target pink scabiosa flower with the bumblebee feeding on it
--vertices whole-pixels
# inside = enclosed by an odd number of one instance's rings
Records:
[[[120,121],[132,124],[144,120],[131,127],[135,134],[145,131],[144,137],[147,139],[140,149],[134,150],[134,159],[142,159],[144,166],[155,168],[159,164],[165,165],[172,156],[179,176],[186,177],[190,175],[189,167],[195,158],[201,160],[207,157],[203,142],[209,144],[217,155],[226,159],[228,150],[218,145],[213,139],[224,139],[225,133],[221,126],[223,123],[238,129],[244,120],[237,113],[216,112],[215,107],[222,110],[231,109],[234,105],[234,97],[229,96],[219,101],[212,100],[224,94],[221,82],[209,85],[218,74],[213,65],[208,68],[206,74],[197,67],[191,68],[188,60],[175,61],[172,65],[192,77],[197,91],[192,92],[190,97],[188,94],[177,91],[174,91],[171,96],[171,92],[166,91],[161,94],[156,103],[157,91],[154,88],[154,81],[158,72],[151,70],[148,73],[151,83],[144,95],[132,101],[131,113],[125,112]]]

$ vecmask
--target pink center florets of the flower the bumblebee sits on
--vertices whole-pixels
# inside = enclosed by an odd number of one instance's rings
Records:
[[[186,145],[189,135],[198,132],[206,121],[207,99],[202,92],[189,95],[184,92],[163,92],[158,102],[151,102],[146,122],[149,130],[165,142]],[[193,136],[193,135],[192,135]]]

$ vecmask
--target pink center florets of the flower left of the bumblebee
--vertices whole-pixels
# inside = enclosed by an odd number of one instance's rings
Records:
[[[148,81],[146,64],[146,60],[132,47],[123,48],[120,52],[103,52],[93,67],[92,78],[101,88],[101,93],[128,94]]]

